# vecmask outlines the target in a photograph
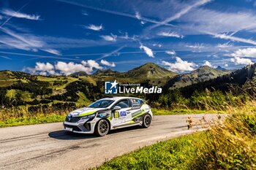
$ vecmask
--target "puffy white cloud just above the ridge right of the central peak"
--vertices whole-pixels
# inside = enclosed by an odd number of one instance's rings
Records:
[[[195,70],[195,66],[197,66],[193,62],[183,61],[181,58],[176,57],[175,63],[170,63],[167,61],[162,61],[164,66],[167,66],[167,69],[172,72],[191,72]]]

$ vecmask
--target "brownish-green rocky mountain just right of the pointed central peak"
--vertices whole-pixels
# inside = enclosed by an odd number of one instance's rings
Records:
[[[176,77],[171,78],[165,85],[167,88],[183,88],[187,85],[192,85],[197,82],[205,82],[224,74],[229,74],[228,70],[213,69],[209,66],[201,66],[193,72],[187,74],[180,74]]]

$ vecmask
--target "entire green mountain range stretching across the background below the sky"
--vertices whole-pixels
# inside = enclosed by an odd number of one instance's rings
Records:
[[[106,97],[105,81],[117,80],[122,83],[140,83],[145,87],[157,85],[167,89],[179,88],[184,96],[191,95],[195,90],[216,89],[227,91],[233,85],[242,86],[256,83],[256,64],[231,72],[202,66],[188,74],[176,74],[154,63],[128,72],[116,72],[110,69],[97,71],[86,76],[42,76],[24,72],[0,72],[0,107],[29,106],[32,110],[48,108],[65,108],[84,106],[91,101]],[[83,72],[76,73],[81,75]],[[175,76],[175,77],[173,77]],[[255,90],[256,85],[248,86]],[[238,88],[239,89],[239,88]],[[241,88],[240,88],[241,89]],[[255,90],[256,91],[256,90]],[[131,94],[121,94],[131,95]],[[135,95],[135,94],[134,94]],[[135,95],[137,96],[137,95]],[[138,94],[140,97],[140,94]],[[157,95],[153,95],[157,98]]]

